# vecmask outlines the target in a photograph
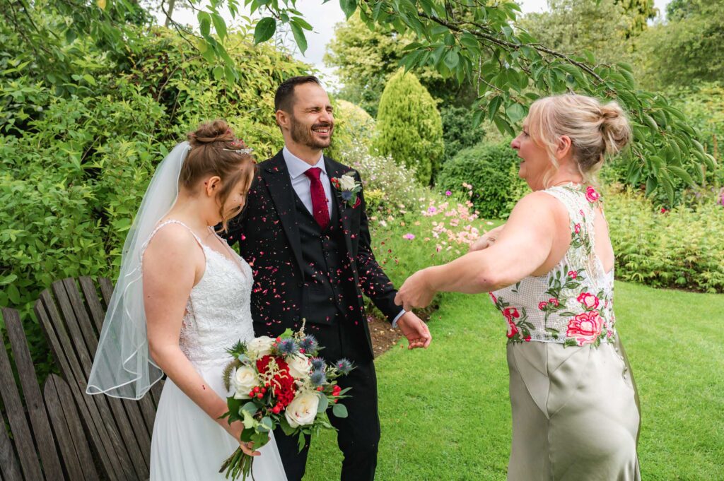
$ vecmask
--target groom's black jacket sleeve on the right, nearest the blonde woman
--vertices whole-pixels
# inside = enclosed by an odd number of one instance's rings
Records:
[[[357,174],[357,181],[361,182],[359,174]],[[390,281],[387,274],[382,271],[382,268],[374,258],[369,234],[366,203],[362,192],[359,193],[359,196],[361,203],[358,208],[361,209],[361,218],[356,264],[360,288],[362,292],[371,299],[377,309],[382,311],[387,317],[387,320],[392,323],[398,315],[400,315],[400,312],[402,312],[402,307],[395,304],[397,289],[395,289],[395,286],[392,286],[392,281]]]

